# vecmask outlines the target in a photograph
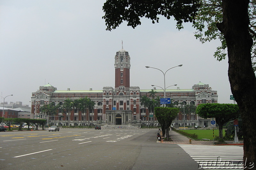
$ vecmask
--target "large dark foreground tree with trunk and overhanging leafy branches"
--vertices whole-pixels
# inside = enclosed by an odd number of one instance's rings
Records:
[[[231,92],[239,106],[244,126],[244,157],[256,162],[256,77],[255,67],[255,0],[182,0],[148,1],[148,0],[107,0],[103,11],[107,30],[115,29],[123,21],[135,28],[140,25],[140,18],[150,18],[153,23],[159,22],[157,15],[167,19],[171,16],[177,20],[178,29],[182,23],[193,22],[201,39],[210,41],[220,39],[221,46],[217,47],[215,57],[225,58],[228,49],[228,78]],[[206,27],[206,28],[205,28]],[[207,30],[204,32],[204,30]],[[203,36],[202,36],[203,37]],[[200,39],[200,36],[196,38]],[[251,52],[253,55],[251,55]],[[245,87],[246,84],[246,87]],[[250,101],[250,102],[247,102]],[[245,160],[244,160],[245,161]],[[245,163],[245,162],[244,162]],[[246,166],[246,165],[244,165]]]

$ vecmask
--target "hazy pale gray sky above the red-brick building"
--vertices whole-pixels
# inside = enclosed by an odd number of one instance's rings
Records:
[[[142,18],[135,29],[123,23],[109,32],[102,19],[104,2],[1,0],[0,95],[13,94],[5,101],[30,105],[31,93],[45,83],[58,90],[114,87],[114,57],[123,40],[131,57],[131,86],[164,87],[163,73],[145,66],[165,72],[183,64],[166,73],[166,87],[191,89],[201,81],[218,91],[219,103],[233,103],[228,60],[213,57],[218,40],[201,44],[190,23],[178,31],[173,18],[163,17],[157,24]]]

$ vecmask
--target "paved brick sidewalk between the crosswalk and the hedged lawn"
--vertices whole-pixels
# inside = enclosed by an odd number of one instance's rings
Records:
[[[161,132],[162,134],[162,132]],[[181,135],[180,133],[177,133],[175,131],[169,131],[169,135],[171,136],[171,139],[173,141],[157,141],[158,143],[167,143],[167,144],[190,144],[189,139],[186,136]],[[216,142],[216,141],[215,141]],[[239,141],[239,143],[234,144],[234,141],[226,141],[228,144],[223,144],[223,145],[244,145],[244,141]],[[194,140],[191,139],[191,145],[214,145],[213,141],[203,141],[203,140]]]

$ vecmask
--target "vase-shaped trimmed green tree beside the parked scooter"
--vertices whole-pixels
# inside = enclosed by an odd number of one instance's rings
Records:
[[[158,122],[162,125],[164,139],[169,139],[169,127],[178,113],[178,108],[155,107],[155,115]]]

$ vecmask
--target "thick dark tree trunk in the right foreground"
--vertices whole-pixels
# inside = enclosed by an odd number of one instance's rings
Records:
[[[223,0],[223,22],[217,27],[227,42],[230,87],[244,123],[244,167],[256,169],[249,165],[256,163],[256,78],[251,61],[248,4],[249,0]]]

